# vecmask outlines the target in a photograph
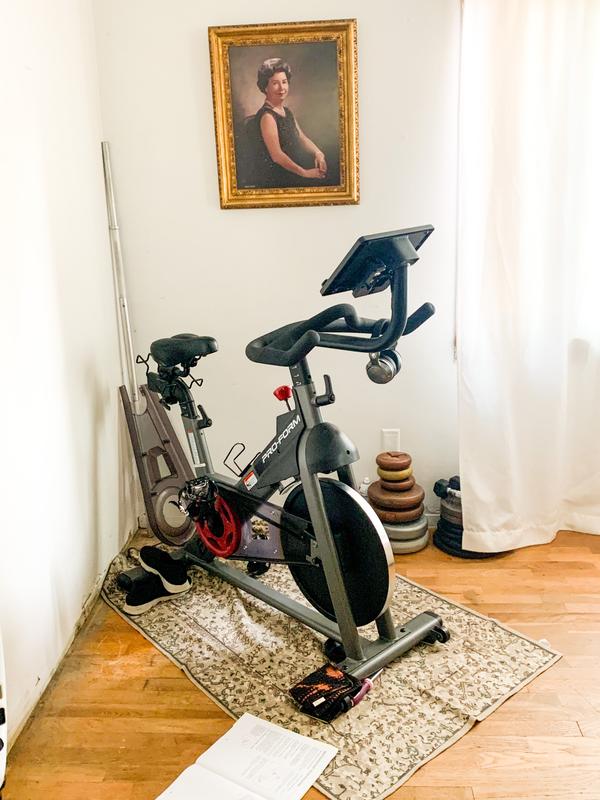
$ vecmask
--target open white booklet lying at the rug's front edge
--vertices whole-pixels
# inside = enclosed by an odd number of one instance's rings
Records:
[[[336,753],[332,745],[244,714],[157,800],[300,800]]]

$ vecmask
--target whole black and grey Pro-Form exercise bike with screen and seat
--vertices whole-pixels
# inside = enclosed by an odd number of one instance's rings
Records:
[[[359,457],[356,447],[321,417],[321,408],[335,400],[331,379],[325,375],[325,391],[318,394],[307,356],[315,347],[352,350],[369,354],[367,372],[375,382],[398,373],[398,339],[434,313],[429,303],[408,319],[406,311],[408,266],[418,260],[417,250],[432,230],[426,226],[361,237],[321,287],[323,295],[352,291],[354,297],[390,288],[389,319],[363,319],[351,305],[339,304],[248,344],[251,361],[287,367],[292,387],[275,391],[287,410],[277,417],[275,436],[235,478],[214,471],[205,437],[211,420],[196,406],[185,380],[201,358],[217,350],[216,341],[180,334],[150,348],[157,371],[148,368],[148,388],[163,406],[179,405],[196,476],[185,482],[177,500],[197,533],[185,545],[185,557],[324,634],[327,656],[356,678],[374,674],[421,641],[446,642],[449,634],[430,611],[394,624],[389,605],[395,571],[388,537],[356,491],[351,468]],[[233,456],[234,464],[240,456],[240,451]],[[269,502],[277,491],[285,495],[282,507]],[[228,561],[247,562],[247,571]],[[312,608],[259,580],[270,564],[288,566]],[[379,633],[376,641],[358,632],[372,622]]]

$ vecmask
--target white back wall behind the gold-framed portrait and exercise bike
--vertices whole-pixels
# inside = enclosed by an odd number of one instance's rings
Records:
[[[375,477],[382,427],[399,427],[428,489],[457,468],[454,248],[459,2],[307,0],[97,0],[102,114],[111,142],[134,341],[179,332],[214,336],[201,397],[219,464],[243,439],[256,452],[274,432],[272,389],[285,370],[255,365],[246,343],[316,313],[319,287],[365,233],[433,223],[410,273],[410,306],[437,314],[402,342],[404,369],[387,386],[363,356],[317,351],[338,397],[325,417],[357,443],[358,477]],[[358,19],[361,202],[299,209],[219,208],[207,26],[298,19]],[[291,99],[290,99],[291,102]],[[387,315],[388,296],[359,300]],[[430,505],[436,498],[429,492]]]

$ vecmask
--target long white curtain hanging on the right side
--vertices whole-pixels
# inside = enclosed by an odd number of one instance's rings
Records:
[[[463,547],[600,533],[600,0],[463,0]]]

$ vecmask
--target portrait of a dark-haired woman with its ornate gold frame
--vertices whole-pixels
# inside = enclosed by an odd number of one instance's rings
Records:
[[[209,28],[222,208],[358,203],[356,20]]]

